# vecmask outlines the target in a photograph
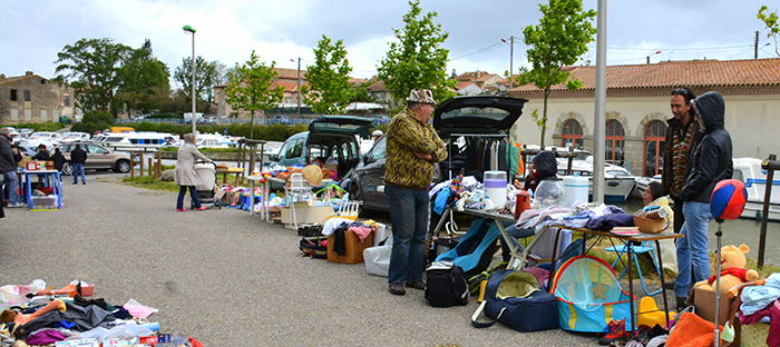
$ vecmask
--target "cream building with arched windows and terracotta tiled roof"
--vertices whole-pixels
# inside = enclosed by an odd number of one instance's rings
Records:
[[[545,145],[576,146],[593,151],[596,68],[567,68],[584,87],[569,91],[554,86],[548,99]],[[725,128],[733,157],[767,158],[780,152],[780,59],[693,60],[606,68],[607,161],[634,175],[653,176],[663,166],[666,120],[672,118],[671,91],[690,87],[696,95],[718,91],[725,99]],[[542,90],[516,87],[508,96],[528,99],[513,126],[517,141],[539,143],[540,130],[530,115],[544,110]]]

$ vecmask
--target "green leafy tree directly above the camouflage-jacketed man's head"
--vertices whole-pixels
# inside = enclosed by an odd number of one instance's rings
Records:
[[[447,75],[449,50],[440,47],[449,33],[441,31],[441,24],[433,24],[436,12],[420,17],[419,0],[409,1],[409,6],[403,16],[406,27],[393,29],[398,41],[390,43],[377,76],[398,100],[416,88],[431,89],[439,101],[451,98],[455,80]]]

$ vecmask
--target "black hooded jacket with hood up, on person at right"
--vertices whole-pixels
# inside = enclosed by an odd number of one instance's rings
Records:
[[[725,101],[714,91],[705,92],[694,100],[696,113],[701,117],[701,131],[704,137],[693,151],[691,174],[680,191],[685,201],[710,204],[710,196],[715,185],[731,178],[734,171],[731,161],[732,143],[725,130]]]

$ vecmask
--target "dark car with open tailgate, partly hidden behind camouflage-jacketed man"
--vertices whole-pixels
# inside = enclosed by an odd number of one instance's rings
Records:
[[[433,128],[439,137],[449,143],[465,150],[467,141],[462,141],[459,135],[501,135],[504,130],[511,128],[523,113],[523,105],[528,100],[494,97],[494,96],[467,96],[448,99],[436,108],[432,115]],[[455,138],[456,135],[457,138]],[[388,199],[384,196],[384,150],[387,135],[362,157],[360,163],[349,172],[342,181],[350,192],[350,200],[363,201],[365,209],[389,211]],[[449,146],[448,146],[449,147]],[[437,165],[433,181],[449,179],[449,161]],[[456,171],[456,163],[452,162]],[[455,175],[455,174],[454,174]],[[443,176],[443,177],[442,177]]]

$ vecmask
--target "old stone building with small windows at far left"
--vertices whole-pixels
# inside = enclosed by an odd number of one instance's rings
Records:
[[[59,121],[75,117],[74,88],[27,71],[25,76],[0,75],[0,125]]]

